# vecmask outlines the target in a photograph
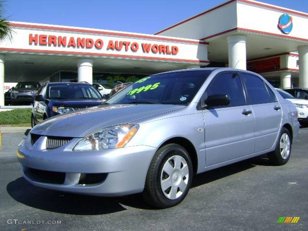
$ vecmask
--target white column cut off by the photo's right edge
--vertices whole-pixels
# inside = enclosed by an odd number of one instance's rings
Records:
[[[299,87],[308,88],[308,46],[298,47]]]

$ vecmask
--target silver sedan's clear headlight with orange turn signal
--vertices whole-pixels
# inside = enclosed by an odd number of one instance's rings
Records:
[[[139,124],[121,124],[102,128],[80,140],[74,150],[123,148],[136,134]]]

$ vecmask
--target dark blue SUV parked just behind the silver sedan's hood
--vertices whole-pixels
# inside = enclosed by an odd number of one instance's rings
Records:
[[[33,128],[52,116],[102,103],[102,95],[89,83],[45,83],[35,96],[31,125]]]

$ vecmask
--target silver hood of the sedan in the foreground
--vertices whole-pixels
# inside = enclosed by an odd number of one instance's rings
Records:
[[[84,137],[100,128],[125,124],[184,107],[166,104],[116,104],[91,107],[51,117],[36,125],[31,133],[44,136]]]

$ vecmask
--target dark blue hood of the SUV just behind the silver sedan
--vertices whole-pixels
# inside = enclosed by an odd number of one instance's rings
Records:
[[[52,100],[53,106],[61,107],[93,107],[102,105],[102,99],[59,99]]]

